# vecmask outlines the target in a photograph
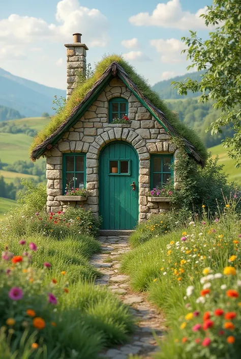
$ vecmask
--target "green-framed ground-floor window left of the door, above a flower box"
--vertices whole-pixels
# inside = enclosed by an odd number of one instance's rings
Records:
[[[63,153],[63,194],[66,185],[74,188],[85,187],[85,154]]]

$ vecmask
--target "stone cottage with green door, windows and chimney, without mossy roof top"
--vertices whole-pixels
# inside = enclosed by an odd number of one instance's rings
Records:
[[[74,34],[67,47],[67,100],[76,87],[77,73],[86,71],[87,46]],[[113,124],[123,116],[129,122]],[[133,229],[150,214],[166,212],[169,203],[148,197],[148,191],[172,177],[170,168],[178,149],[170,143],[179,136],[118,63],[111,63],[71,115],[37,146],[31,158],[47,161],[47,210],[83,205],[103,218],[103,229]],[[187,151],[202,159],[185,140]],[[87,198],[65,196],[65,186],[89,190]]]

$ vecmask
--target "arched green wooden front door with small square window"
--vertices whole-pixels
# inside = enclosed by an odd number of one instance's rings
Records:
[[[138,157],[124,142],[108,144],[100,154],[102,229],[133,229],[138,221]],[[135,187],[131,184],[135,183]],[[133,188],[135,190],[133,190]]]

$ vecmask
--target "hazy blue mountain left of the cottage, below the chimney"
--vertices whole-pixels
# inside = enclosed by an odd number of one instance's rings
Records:
[[[66,97],[66,91],[40,85],[0,68],[1,105],[15,108],[26,117],[39,117],[43,112],[51,115],[54,95]]]

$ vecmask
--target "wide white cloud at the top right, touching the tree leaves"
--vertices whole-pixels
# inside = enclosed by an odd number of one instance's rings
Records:
[[[167,4],[159,3],[152,14],[148,12],[131,16],[129,21],[136,26],[160,26],[166,29],[191,30],[206,29],[201,14],[207,7],[199,9],[195,14],[184,11],[180,0],[169,0]]]

